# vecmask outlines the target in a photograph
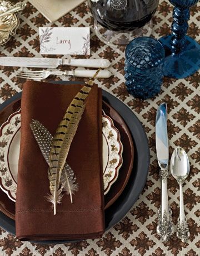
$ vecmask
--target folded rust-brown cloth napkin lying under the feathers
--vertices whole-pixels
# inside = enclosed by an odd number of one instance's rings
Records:
[[[41,122],[52,134],[82,85],[58,85],[28,81],[21,103],[21,146],[19,156],[16,234],[22,240],[97,238],[104,231],[102,175],[102,94],[93,85],[67,162],[76,173],[79,190],[71,204],[64,195],[53,215],[47,176],[48,165],[29,124]]]

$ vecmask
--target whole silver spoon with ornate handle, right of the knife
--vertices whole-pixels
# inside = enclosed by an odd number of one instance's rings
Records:
[[[189,174],[189,160],[186,151],[181,147],[174,149],[172,154],[171,173],[172,176],[176,178],[180,190],[180,215],[178,218],[177,236],[182,242],[186,242],[189,238],[189,228],[186,215],[184,214],[182,185]]]

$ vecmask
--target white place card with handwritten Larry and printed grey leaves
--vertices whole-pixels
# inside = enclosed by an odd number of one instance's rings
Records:
[[[39,27],[41,54],[89,55],[89,27]]]

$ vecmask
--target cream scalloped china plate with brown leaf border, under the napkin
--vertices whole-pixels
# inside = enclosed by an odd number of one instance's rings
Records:
[[[117,180],[122,166],[123,146],[120,133],[104,112],[103,136],[103,183],[104,195]],[[0,128],[0,178],[1,189],[9,199],[16,201],[19,145],[21,138],[21,110],[14,112]]]

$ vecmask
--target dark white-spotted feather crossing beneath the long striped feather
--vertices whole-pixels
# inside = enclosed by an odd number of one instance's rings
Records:
[[[53,136],[47,130],[47,128],[44,127],[44,125],[42,125],[38,120],[33,119],[30,127],[33,132],[33,136],[36,139],[39,148],[41,149],[43,157],[49,166],[49,154],[51,149],[51,143],[53,141]],[[66,191],[68,195],[69,191],[71,191],[71,194],[74,194],[74,192],[78,191],[76,176],[74,175],[72,168],[68,165],[67,162],[64,163],[64,168],[61,174],[60,186],[62,186],[62,184],[64,184],[63,191]]]

